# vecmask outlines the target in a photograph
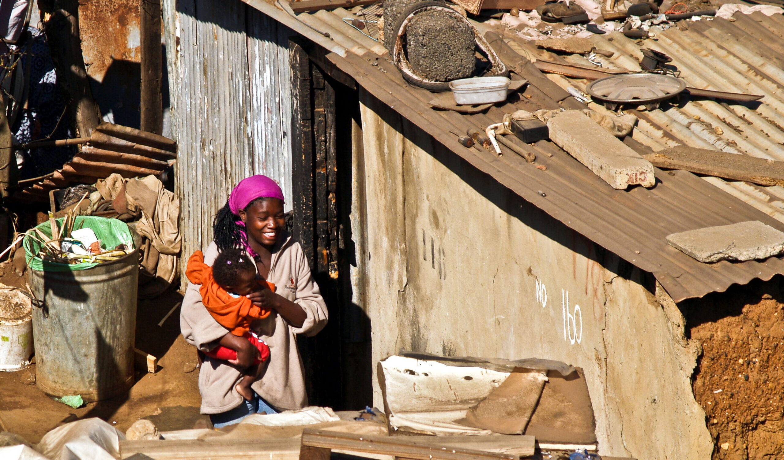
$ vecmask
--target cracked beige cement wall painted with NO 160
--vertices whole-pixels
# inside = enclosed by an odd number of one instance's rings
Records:
[[[364,253],[352,279],[371,318],[374,362],[401,348],[565,361],[586,372],[602,455],[710,458],[689,381],[698,346],[651,275],[371,95],[360,100],[364,153],[354,152],[363,155],[354,186],[365,209],[356,207],[353,221],[365,223],[354,229]]]

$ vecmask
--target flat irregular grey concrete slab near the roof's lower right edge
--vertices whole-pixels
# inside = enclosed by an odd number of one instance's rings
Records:
[[[760,221],[698,228],[666,239],[700,262],[753,261],[784,252],[784,232]]]

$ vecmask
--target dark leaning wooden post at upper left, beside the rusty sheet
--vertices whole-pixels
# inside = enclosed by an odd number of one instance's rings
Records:
[[[45,5],[42,3],[42,5]],[[100,123],[100,110],[93,99],[82,57],[82,40],[79,38],[78,0],[57,2],[60,9],[44,24],[46,38],[52,49],[52,59],[57,75],[63,77],[64,87],[71,98],[71,117],[78,137],[89,138],[93,128]],[[42,13],[49,13],[42,8]]]

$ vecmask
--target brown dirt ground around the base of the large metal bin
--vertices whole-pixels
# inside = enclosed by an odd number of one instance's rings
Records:
[[[0,282],[24,286],[20,264],[0,264]],[[35,365],[18,372],[0,372],[0,429],[37,443],[50,429],[65,422],[100,417],[125,432],[138,419],[149,419],[160,431],[189,429],[205,419],[199,414],[196,350],[180,335],[179,309],[158,327],[182,300],[175,289],[154,300],[140,300],[136,318],[136,348],[159,358],[158,372],[136,371],[128,394],[73,409],[53,401],[35,385]]]

